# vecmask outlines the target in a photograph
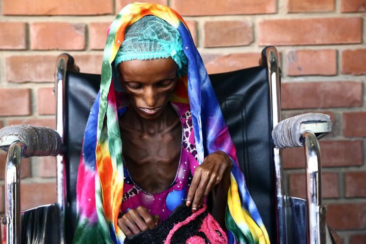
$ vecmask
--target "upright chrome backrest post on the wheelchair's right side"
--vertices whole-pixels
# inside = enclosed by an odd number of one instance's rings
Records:
[[[269,94],[272,117],[272,128],[281,121],[281,95],[280,95],[280,67],[278,65],[278,54],[275,47],[266,49]],[[277,241],[279,244],[287,243],[286,220],[285,220],[285,202],[283,193],[283,176],[281,163],[281,150],[273,148],[273,160],[275,162],[276,176],[276,211],[277,211]]]

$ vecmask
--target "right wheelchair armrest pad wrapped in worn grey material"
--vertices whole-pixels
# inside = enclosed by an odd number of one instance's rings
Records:
[[[322,113],[304,113],[282,120],[272,131],[273,143],[278,148],[303,146],[301,136],[313,132],[318,139],[331,131],[330,116]]]

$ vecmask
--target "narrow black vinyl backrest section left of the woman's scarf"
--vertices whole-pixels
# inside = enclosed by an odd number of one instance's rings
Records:
[[[71,243],[76,230],[76,181],[87,118],[100,86],[100,75],[67,72],[65,79],[66,209],[65,234]]]

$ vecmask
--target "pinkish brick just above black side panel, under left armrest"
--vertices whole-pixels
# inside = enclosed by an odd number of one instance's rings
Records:
[[[21,209],[55,203],[57,190],[55,182],[23,183],[20,187]]]

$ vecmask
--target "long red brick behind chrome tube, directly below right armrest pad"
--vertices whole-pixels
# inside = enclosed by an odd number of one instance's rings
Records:
[[[320,141],[323,167],[348,167],[363,165],[363,141]],[[302,147],[284,149],[282,162],[285,169],[304,168],[305,156]]]

